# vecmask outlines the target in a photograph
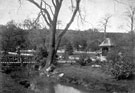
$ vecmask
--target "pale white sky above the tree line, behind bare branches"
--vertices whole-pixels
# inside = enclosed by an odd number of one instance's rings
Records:
[[[19,0],[0,0],[0,24],[6,24],[10,20],[15,20],[17,23],[23,22],[24,19],[36,18],[39,10],[27,2],[22,0],[20,6]],[[121,0],[126,4],[134,0]],[[63,7],[60,12],[59,20],[62,24],[59,27],[64,27],[65,23],[71,16],[69,7],[66,7],[69,0],[64,0]],[[132,2],[135,5],[135,2]],[[81,1],[82,14],[86,15],[85,19],[87,22],[81,24],[77,21],[77,17],[70,29],[85,30],[89,28],[101,28],[99,26],[100,21],[106,14],[111,14],[112,18],[109,22],[108,32],[126,32],[128,30],[127,18],[124,12],[127,9],[126,5],[116,3],[114,0],[82,0]]]

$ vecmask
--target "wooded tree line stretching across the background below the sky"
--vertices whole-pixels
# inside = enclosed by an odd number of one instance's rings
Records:
[[[60,30],[57,31],[57,33],[59,32]],[[46,28],[31,28],[24,30],[15,23],[9,22],[7,25],[0,27],[1,50],[16,51],[17,46],[20,46],[21,49],[37,49],[39,46],[48,48],[50,39],[49,34],[50,32]],[[130,38],[130,32],[107,33],[106,36],[111,38],[115,47],[120,51],[131,49],[132,40]],[[97,51],[99,50],[98,45],[103,39],[104,33],[98,32],[98,29],[89,29],[86,31],[69,30],[64,35],[59,49]]]

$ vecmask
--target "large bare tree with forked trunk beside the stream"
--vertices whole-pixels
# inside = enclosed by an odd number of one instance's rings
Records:
[[[74,21],[74,18],[77,12],[79,11],[79,5],[81,0],[71,0],[71,7],[73,8],[71,19],[69,20],[63,31],[59,33],[57,38],[56,38],[56,29],[57,29],[56,27],[60,8],[63,5],[63,0],[50,0],[51,4],[49,4],[47,0],[40,0],[40,3],[36,0],[27,0],[27,1],[34,4],[40,10],[40,15],[42,15],[42,17],[45,20],[45,23],[48,25],[49,30],[51,31],[49,55],[45,66],[46,68],[54,62],[55,55],[57,53],[61,39],[63,35],[67,32],[72,22]]]

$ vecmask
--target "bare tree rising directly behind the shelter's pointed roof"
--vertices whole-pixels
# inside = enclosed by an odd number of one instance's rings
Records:
[[[106,38],[106,30],[107,30],[107,27],[108,27],[108,22],[109,22],[111,17],[112,17],[112,15],[107,14],[102,19],[102,21],[100,21],[101,25],[103,26],[103,30],[104,30],[104,39]]]

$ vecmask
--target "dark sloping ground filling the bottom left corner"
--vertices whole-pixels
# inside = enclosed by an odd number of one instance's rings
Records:
[[[16,83],[10,76],[0,72],[0,93],[34,93]]]

